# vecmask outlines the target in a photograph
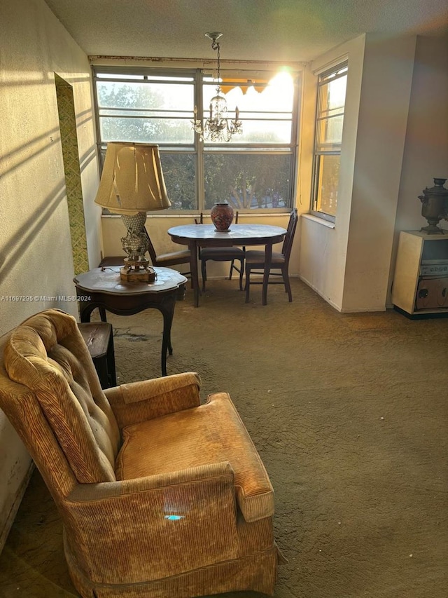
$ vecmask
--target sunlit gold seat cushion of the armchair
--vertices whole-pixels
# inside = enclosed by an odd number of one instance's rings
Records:
[[[228,461],[246,522],[273,515],[274,490],[227,393],[210,395],[205,405],[127,426],[122,432],[117,480]]]

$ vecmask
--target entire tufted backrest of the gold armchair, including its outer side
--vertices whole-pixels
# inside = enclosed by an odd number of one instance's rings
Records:
[[[120,432],[73,316],[38,313],[0,339],[0,407],[50,490],[116,480]]]

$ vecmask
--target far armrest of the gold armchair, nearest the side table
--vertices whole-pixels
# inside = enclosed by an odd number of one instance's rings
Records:
[[[106,388],[120,429],[200,405],[201,379],[188,372]]]

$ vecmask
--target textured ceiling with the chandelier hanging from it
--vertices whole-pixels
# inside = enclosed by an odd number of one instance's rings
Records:
[[[440,34],[448,0],[45,0],[88,55],[308,62],[361,33]]]

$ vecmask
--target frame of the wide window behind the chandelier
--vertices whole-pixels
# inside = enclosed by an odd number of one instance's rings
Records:
[[[278,72],[278,68],[272,67],[272,70],[263,69],[262,73],[266,74],[269,79],[274,77],[276,72]],[[208,155],[211,154],[222,154],[223,156],[226,155],[274,155],[274,156],[281,156],[281,155],[289,155],[290,156],[290,164],[288,166],[289,170],[289,195],[286,201],[286,206],[281,208],[237,208],[239,213],[248,213],[248,214],[255,214],[255,213],[266,213],[266,212],[290,212],[290,207],[294,205],[295,194],[296,194],[296,186],[297,186],[297,170],[298,170],[298,130],[299,130],[299,118],[300,118],[300,95],[302,92],[302,71],[300,69],[289,69],[290,74],[293,76],[293,107],[291,109],[291,118],[288,122],[291,123],[291,134],[290,134],[290,142],[286,144],[269,144],[269,143],[238,143],[237,140],[229,143],[223,142],[222,144],[216,143],[207,143],[201,142],[200,136],[197,133],[193,134],[193,143],[192,144],[184,144],[184,143],[158,143],[160,154],[187,154],[193,156],[195,161],[195,208],[188,208],[188,209],[170,209],[169,215],[188,215],[188,214],[197,214],[198,211],[208,213],[211,208],[206,208],[206,193],[205,193],[205,160]],[[225,77],[228,85],[228,82],[232,82],[232,76],[229,76],[229,73],[237,73],[234,76],[235,81],[241,78],[242,76],[246,77],[247,80],[254,79],[253,76],[255,73],[259,74],[256,68],[251,69],[235,69],[226,71],[225,69],[221,70],[223,77]],[[109,76],[108,76],[109,74]],[[206,83],[205,81],[207,78],[211,76],[209,69],[201,69],[201,68],[172,68],[172,67],[153,67],[153,66],[132,66],[132,67],[123,67],[123,66],[104,66],[101,64],[93,64],[92,65],[92,81],[93,81],[93,95],[94,95],[94,122],[95,127],[97,130],[97,147],[98,147],[98,154],[100,159],[100,172],[102,171],[102,165],[104,163],[104,156],[106,154],[106,145],[107,142],[102,141],[101,135],[101,126],[100,126],[100,116],[99,114],[99,105],[98,105],[98,93],[97,93],[97,81],[113,81],[116,83],[129,81],[130,83],[135,83],[139,81],[138,79],[130,79],[132,75],[147,75],[147,76],[157,76],[161,77],[158,82],[163,82],[164,76],[167,78],[173,77],[191,77],[193,79],[192,83],[194,86],[194,104],[197,106],[197,114],[203,114],[203,85],[210,85],[210,83]],[[101,76],[99,76],[101,75]],[[258,77],[257,77],[258,78]],[[268,79],[268,80],[269,80]],[[235,87],[237,83],[235,83]],[[231,113],[230,113],[231,114]],[[190,118],[190,117],[189,117]],[[191,111],[191,120],[193,120],[193,107]],[[284,120],[284,119],[283,119]],[[237,136],[235,136],[236,138]],[[234,138],[234,139],[235,139]],[[118,140],[116,140],[118,141]],[[168,215],[168,213],[167,213]]]

